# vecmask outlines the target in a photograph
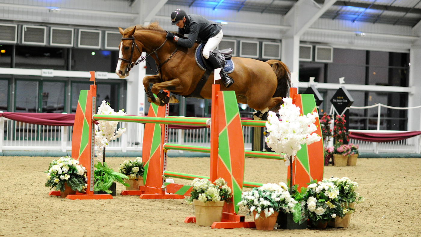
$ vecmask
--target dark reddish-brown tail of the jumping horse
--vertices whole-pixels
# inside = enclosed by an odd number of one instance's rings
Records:
[[[291,72],[288,69],[287,65],[275,59],[270,59],[266,61],[266,63],[268,63],[272,67],[272,70],[275,73],[278,80],[276,91],[272,97],[287,97],[289,94],[289,88],[291,87]],[[274,109],[274,111],[277,111],[279,109],[279,106],[280,104],[277,104],[275,107],[271,108],[271,110]]]

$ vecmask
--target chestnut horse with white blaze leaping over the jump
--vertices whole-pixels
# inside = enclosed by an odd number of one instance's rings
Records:
[[[175,96],[168,101],[166,94],[160,90],[168,90],[180,96],[189,96],[195,91],[196,85],[204,75],[195,61],[195,49],[197,42],[192,48],[176,45],[173,40],[167,40],[167,32],[157,22],[148,26],[136,25],[119,31],[123,37],[119,45],[119,60],[115,72],[120,78],[129,75],[142,52],[155,59],[158,74],[146,76],[143,85],[148,96],[148,101],[159,106],[165,103],[176,103]],[[182,37],[182,36],[180,36]],[[144,60],[146,57],[142,57]],[[237,101],[248,104],[248,107],[258,111],[255,119],[261,118],[268,110],[277,112],[282,104],[282,97],[288,96],[290,71],[279,60],[266,62],[256,59],[232,57],[235,69],[229,74],[234,79],[234,84],[226,88],[221,80],[216,83],[222,84],[221,90],[235,91]],[[152,89],[149,87],[152,83]],[[211,85],[213,73],[200,91],[200,96],[211,99]],[[152,94],[153,93],[153,94]],[[155,97],[155,95],[157,97]]]

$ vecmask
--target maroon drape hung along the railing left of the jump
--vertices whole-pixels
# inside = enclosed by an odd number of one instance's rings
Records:
[[[0,117],[39,125],[73,126],[75,114],[3,112]]]

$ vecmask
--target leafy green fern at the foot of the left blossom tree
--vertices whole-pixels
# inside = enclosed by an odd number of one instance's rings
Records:
[[[129,177],[125,176],[124,174],[115,172],[112,168],[109,168],[107,163],[98,162],[95,165],[96,170],[93,172],[93,178],[95,184],[93,185],[93,191],[104,191],[108,194],[111,194],[112,191],[109,190],[113,182],[119,182],[124,186],[130,186],[124,182],[124,179],[128,179]]]

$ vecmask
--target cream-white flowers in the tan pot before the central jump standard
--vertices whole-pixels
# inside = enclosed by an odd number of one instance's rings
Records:
[[[192,181],[191,196],[187,198],[187,203],[191,204],[193,200],[199,200],[201,202],[231,202],[231,188],[226,184],[223,178],[218,178],[213,183],[206,178],[195,178]]]

